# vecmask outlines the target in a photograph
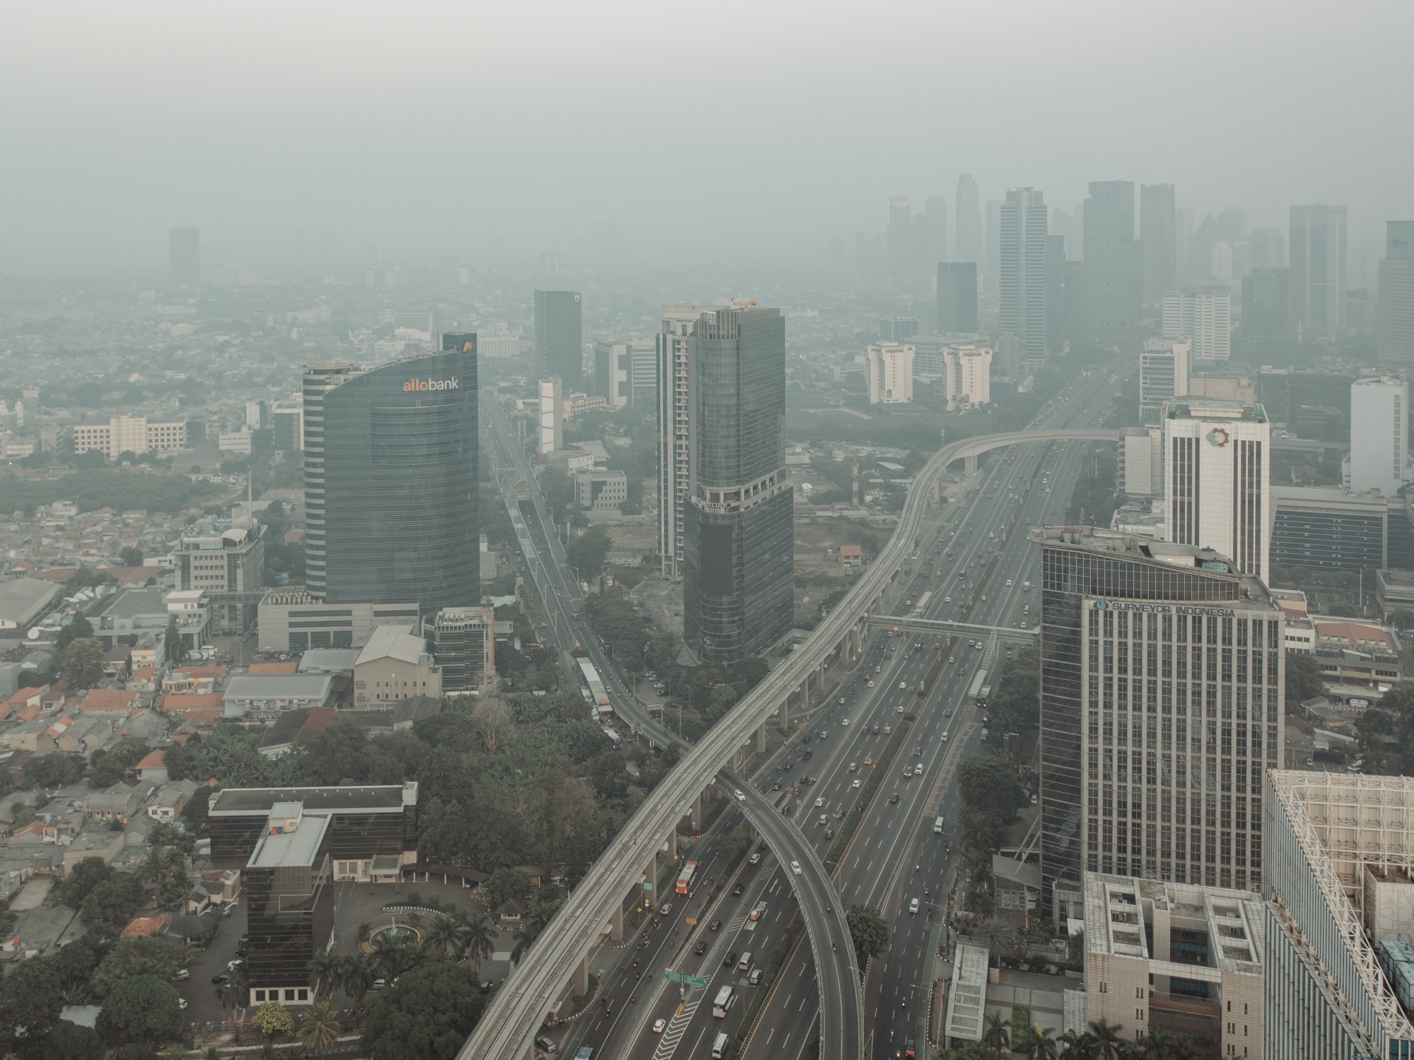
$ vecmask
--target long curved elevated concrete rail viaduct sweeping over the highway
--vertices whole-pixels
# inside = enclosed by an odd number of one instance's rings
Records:
[[[854,636],[855,629],[888,591],[889,584],[913,550],[923,526],[933,486],[947,465],[956,459],[976,461],[991,449],[1034,441],[1097,440],[1116,441],[1116,430],[1011,431],[967,438],[939,449],[915,476],[894,536],[878,558],[809,639],[786,656],[748,695],[717,725],[708,729],[691,752],[669,773],[639,806],[608,848],[598,856],[580,886],[556,914],[550,929],[495,994],[457,1060],[512,1060],[532,1054],[536,1030],[563,994],[575,967],[588,955],[595,940],[622,909],[642,866],[652,862],[663,838],[689,813],[693,800],[714,783],[717,770],[752,734],[766,722],[822,660]],[[812,940],[813,941],[813,940]],[[823,964],[817,961],[817,964]],[[823,1013],[830,1019],[830,1013]],[[822,1056],[851,1060],[860,1053],[836,1032],[824,1039]]]

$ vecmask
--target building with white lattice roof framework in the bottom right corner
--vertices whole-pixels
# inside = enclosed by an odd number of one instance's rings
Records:
[[[1267,773],[1264,1060],[1414,1056],[1414,779]]]

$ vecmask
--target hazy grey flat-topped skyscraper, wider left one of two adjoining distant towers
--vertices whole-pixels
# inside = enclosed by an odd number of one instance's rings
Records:
[[[1090,336],[1126,346],[1144,317],[1144,261],[1134,239],[1134,181],[1090,181],[1085,201]]]

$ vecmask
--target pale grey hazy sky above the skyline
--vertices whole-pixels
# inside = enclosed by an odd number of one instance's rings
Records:
[[[1072,209],[1174,181],[1285,228],[1414,216],[1414,4],[72,3],[0,13],[0,267],[385,257],[820,263],[974,171]],[[208,260],[209,254],[208,254]]]

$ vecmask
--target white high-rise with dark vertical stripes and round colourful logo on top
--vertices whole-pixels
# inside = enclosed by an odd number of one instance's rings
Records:
[[[1266,581],[1271,424],[1260,404],[1178,397],[1164,410],[1167,538],[1212,548]]]

